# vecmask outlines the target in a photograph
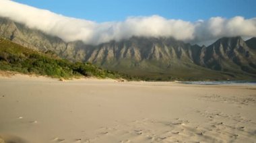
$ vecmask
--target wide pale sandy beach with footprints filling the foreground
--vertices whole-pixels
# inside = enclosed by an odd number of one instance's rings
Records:
[[[0,142],[256,142],[256,87],[0,77]]]

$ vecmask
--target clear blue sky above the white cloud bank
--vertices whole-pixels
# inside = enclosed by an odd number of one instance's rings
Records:
[[[15,0],[69,17],[97,22],[123,21],[129,16],[160,15],[166,19],[197,21],[236,15],[256,16],[256,0]]]

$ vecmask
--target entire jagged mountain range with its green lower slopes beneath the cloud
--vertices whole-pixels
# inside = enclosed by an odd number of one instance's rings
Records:
[[[65,42],[4,17],[0,18],[0,37],[144,79],[256,80],[256,38],[220,38],[210,46],[198,46],[174,38],[134,36],[95,46]]]

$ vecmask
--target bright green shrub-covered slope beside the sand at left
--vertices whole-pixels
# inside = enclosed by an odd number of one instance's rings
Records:
[[[88,62],[69,62],[54,52],[38,52],[0,38],[0,70],[11,70],[25,74],[47,75],[69,79],[71,77],[98,77],[111,79],[132,79],[98,68]]]

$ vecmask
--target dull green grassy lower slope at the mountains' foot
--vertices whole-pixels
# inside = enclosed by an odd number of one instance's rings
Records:
[[[104,68],[149,81],[222,81],[227,79],[251,81],[256,79],[256,77],[253,77],[254,75],[211,70],[195,64],[189,64],[189,62],[172,61],[170,68],[161,65],[166,64],[159,61],[145,60],[136,65],[135,62],[121,60],[119,63],[113,62],[110,66],[104,66]]]

